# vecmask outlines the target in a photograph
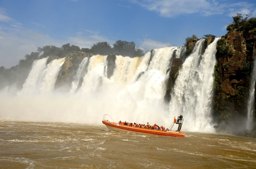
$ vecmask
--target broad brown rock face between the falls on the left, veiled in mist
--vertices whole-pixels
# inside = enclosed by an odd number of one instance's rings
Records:
[[[72,51],[67,54],[55,82],[55,88],[69,89],[79,64],[85,57],[91,57],[91,53]],[[47,60],[48,61],[48,60]]]

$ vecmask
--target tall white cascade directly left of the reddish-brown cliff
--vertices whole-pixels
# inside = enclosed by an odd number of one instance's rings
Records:
[[[170,118],[182,114],[183,128],[190,131],[212,132],[211,101],[213,95],[216,38],[201,53],[204,39],[197,41],[193,52],[183,63],[175,81],[170,102]]]

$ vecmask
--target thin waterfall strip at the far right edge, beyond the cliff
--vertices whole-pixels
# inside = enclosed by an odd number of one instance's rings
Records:
[[[252,74],[251,74],[251,83],[249,90],[249,98],[247,103],[247,123],[246,129],[252,130],[253,128],[253,110],[254,110],[254,94],[255,94],[255,81],[256,81],[256,61],[253,61]]]

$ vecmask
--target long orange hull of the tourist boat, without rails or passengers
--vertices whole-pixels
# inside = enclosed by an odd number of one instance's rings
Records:
[[[175,131],[161,131],[161,130],[152,130],[152,129],[143,129],[138,127],[126,126],[114,122],[109,122],[108,120],[102,120],[102,123],[105,124],[109,130],[112,131],[124,131],[138,134],[156,134],[162,136],[174,136],[174,137],[185,137],[184,133],[175,132]]]

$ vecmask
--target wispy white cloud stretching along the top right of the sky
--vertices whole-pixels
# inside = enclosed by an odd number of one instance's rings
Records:
[[[131,0],[132,3],[139,4],[149,11],[156,11],[162,17],[175,17],[198,13],[203,16],[224,14],[234,16],[237,12],[248,14],[255,9],[253,4],[247,2],[224,3],[209,0]]]

